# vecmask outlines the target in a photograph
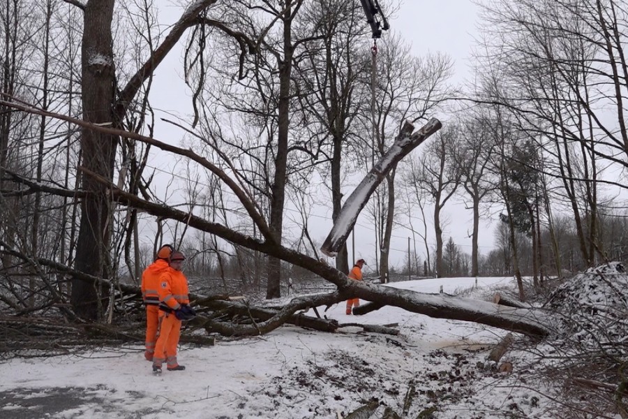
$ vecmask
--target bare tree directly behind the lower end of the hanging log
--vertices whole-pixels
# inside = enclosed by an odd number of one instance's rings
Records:
[[[357,113],[368,71],[364,52],[365,24],[357,2],[341,0],[318,0],[306,6],[304,23],[298,28],[303,33],[313,34],[316,39],[304,44],[305,59],[295,68],[299,100],[304,115],[304,124],[309,126],[312,138],[322,138],[325,147],[322,153],[329,160],[329,189],[331,191],[331,216],[334,221],[342,207],[343,160],[350,156],[351,148],[345,143],[353,140],[361,144],[359,127],[355,127]],[[315,124],[310,124],[315,122]],[[329,143],[329,145],[327,145]],[[359,147],[359,146],[358,146]],[[329,148],[329,152],[327,152]],[[345,164],[345,168],[350,165]],[[326,167],[320,168],[323,179]],[[327,182],[323,182],[327,186]],[[352,261],[353,262],[353,261]],[[336,256],[336,268],[349,272],[346,245]]]

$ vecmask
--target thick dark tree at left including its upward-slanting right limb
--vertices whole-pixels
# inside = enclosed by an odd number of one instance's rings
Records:
[[[114,0],[89,0],[83,9],[82,37],[82,112],[83,119],[95,124],[120,127],[137,92],[151,72],[172,50],[186,29],[197,24],[197,16],[216,0],[191,4],[141,68],[123,89],[117,91],[113,54],[112,22]],[[73,4],[80,5],[78,2]],[[113,179],[114,161],[119,138],[91,130],[81,135],[81,165],[84,170]],[[80,230],[77,237],[75,265],[77,270],[98,277],[111,277],[109,260],[111,238],[111,207],[103,185],[93,177],[82,177],[82,190],[87,196],[81,202]],[[97,284],[75,277],[71,302],[78,316],[96,319],[103,311],[106,292]],[[106,306],[105,306],[106,307]]]

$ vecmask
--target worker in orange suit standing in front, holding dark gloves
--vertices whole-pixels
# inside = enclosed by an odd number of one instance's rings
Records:
[[[168,371],[186,369],[177,362],[181,321],[190,320],[196,313],[190,307],[188,280],[181,272],[185,259],[183,253],[173,251],[170,254],[170,269],[159,278],[159,332],[153,357],[153,372],[156,373],[161,372],[161,366],[166,360]]]

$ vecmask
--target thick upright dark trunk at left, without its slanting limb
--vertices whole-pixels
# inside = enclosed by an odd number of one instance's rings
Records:
[[[111,24],[114,0],[89,0],[84,9],[82,38],[83,119],[97,124],[114,121],[116,80],[113,61]],[[83,129],[81,133],[82,166],[112,180],[118,138]],[[88,195],[81,202],[81,218],[76,250],[76,269],[107,278],[111,236],[110,207],[105,187],[82,177],[82,189]],[[101,298],[106,291],[96,284],[73,278],[70,302],[77,316],[97,320],[103,314]]]

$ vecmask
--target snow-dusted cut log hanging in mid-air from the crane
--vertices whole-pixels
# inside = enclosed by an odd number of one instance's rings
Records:
[[[377,186],[403,157],[441,127],[440,121],[432,118],[419,131],[412,133],[414,126],[410,122],[405,122],[393,145],[375,163],[375,166],[371,168],[371,171],[347,198],[345,205],[334,221],[334,226],[320,248],[324,254],[331,257],[336,256],[338,249],[349,237],[362,208],[368,202],[368,198],[371,198],[371,194],[377,189]]]

